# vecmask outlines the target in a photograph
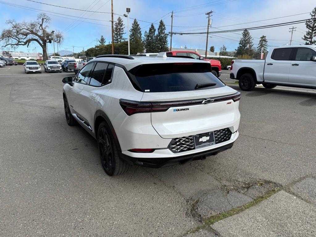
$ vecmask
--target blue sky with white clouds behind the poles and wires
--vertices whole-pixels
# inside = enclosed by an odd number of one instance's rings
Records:
[[[69,8],[111,12],[111,0],[34,1]],[[13,3],[15,6],[9,6],[4,3]],[[150,23],[148,22],[156,23],[155,26],[157,28],[160,19],[163,19],[167,25],[167,32],[169,32],[172,10],[174,11],[173,32],[205,32],[207,25],[205,13],[211,10],[214,13],[211,17],[212,27],[210,31],[216,31],[218,29],[215,27],[231,30],[307,19],[310,17],[308,13],[312,11],[315,6],[315,0],[113,0],[114,13],[123,15],[125,14],[126,7],[129,7],[131,8],[130,17],[142,20],[139,21],[142,32],[145,32],[145,30],[148,31],[150,27]],[[24,9],[25,7],[31,9]],[[100,38],[101,34],[106,38],[106,43],[111,40],[111,14],[83,12],[47,6],[27,0],[0,1],[0,30],[7,27],[5,21],[8,19],[15,19],[16,21],[34,20],[38,14],[36,11],[50,14],[49,16],[52,19],[50,30],[60,30],[64,33],[64,42],[59,45],[59,50],[67,48],[67,51],[72,51],[72,46],[75,46],[74,51],[79,52],[83,47],[85,49],[93,47],[96,44],[96,39]],[[276,17],[283,18],[261,21]],[[117,18],[118,15],[114,15],[114,21]],[[123,18],[127,32],[127,18]],[[133,20],[130,19],[130,25],[132,21]],[[250,21],[259,22],[247,23]],[[301,23],[293,26],[297,28],[293,33],[292,45],[304,44],[301,38],[306,31],[305,24]],[[292,25],[250,31],[254,38],[254,46],[257,46],[258,38],[262,35],[267,36],[269,46],[289,44],[291,38],[291,34],[289,33],[290,27],[292,27]],[[210,35],[211,38],[209,38],[209,47],[215,46],[216,52],[219,51],[222,45],[225,45],[228,51],[234,50],[238,46],[240,34],[241,32],[212,34]],[[168,37],[168,40],[170,42],[170,37]],[[173,47],[187,46],[188,48],[192,47],[194,49],[204,49],[205,43],[206,35],[173,35],[172,40]],[[0,46],[2,45],[3,43],[0,42]],[[33,43],[29,46],[30,52],[32,52],[34,47],[36,47],[38,52],[41,52],[39,51],[40,46],[37,43]],[[56,45],[55,48],[57,51]],[[48,50],[49,53],[53,52],[52,44]],[[20,46],[16,51],[27,52],[27,47]]]

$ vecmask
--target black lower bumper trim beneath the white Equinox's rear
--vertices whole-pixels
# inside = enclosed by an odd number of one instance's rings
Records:
[[[143,167],[151,167],[151,168],[160,168],[160,167],[167,167],[171,165],[176,165],[176,164],[184,164],[188,161],[193,161],[193,160],[204,160],[206,159],[206,156],[209,155],[217,155],[218,153],[225,151],[227,149],[232,148],[234,145],[234,142],[229,143],[227,145],[207,150],[207,151],[202,151],[199,153],[195,154],[190,154],[190,155],[182,155],[178,156],[176,158],[174,157],[167,157],[167,158],[135,158],[131,157],[128,155],[123,154],[122,152],[119,152],[119,156],[121,159],[127,161],[130,164],[134,164],[137,166],[143,166]]]

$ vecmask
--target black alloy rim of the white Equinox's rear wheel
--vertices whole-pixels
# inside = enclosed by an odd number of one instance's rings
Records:
[[[114,154],[110,135],[104,127],[101,127],[98,132],[98,147],[102,167],[107,174],[112,175],[114,168]]]

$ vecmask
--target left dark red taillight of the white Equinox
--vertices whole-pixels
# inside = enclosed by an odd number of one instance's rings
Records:
[[[167,111],[167,109],[169,108],[157,102],[139,102],[123,99],[119,100],[119,104],[127,115],[132,115],[134,113],[161,112]]]

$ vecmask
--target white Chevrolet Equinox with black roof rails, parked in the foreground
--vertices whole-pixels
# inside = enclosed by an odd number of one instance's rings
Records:
[[[63,82],[67,123],[96,138],[108,175],[205,159],[239,135],[240,93],[204,60],[101,55]]]

